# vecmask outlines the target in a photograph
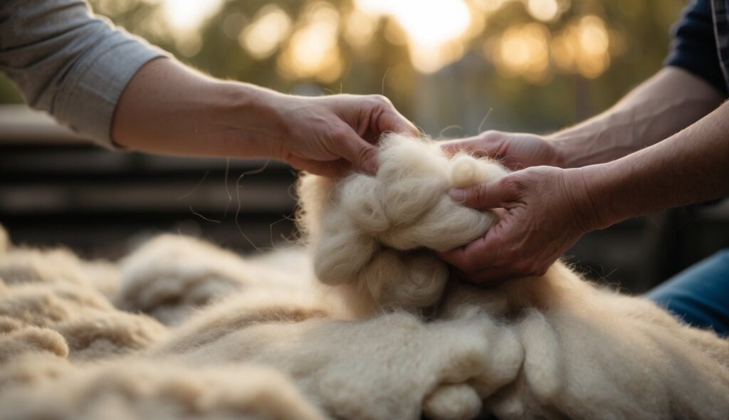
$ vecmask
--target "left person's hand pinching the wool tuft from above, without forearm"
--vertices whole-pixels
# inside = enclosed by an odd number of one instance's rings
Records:
[[[384,96],[280,98],[277,106],[284,139],[276,158],[314,174],[340,175],[351,169],[374,174],[375,144],[382,133],[418,135]]]

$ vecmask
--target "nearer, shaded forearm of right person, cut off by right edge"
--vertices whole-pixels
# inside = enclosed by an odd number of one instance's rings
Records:
[[[571,171],[585,179],[594,228],[729,195],[729,103],[658,144]]]

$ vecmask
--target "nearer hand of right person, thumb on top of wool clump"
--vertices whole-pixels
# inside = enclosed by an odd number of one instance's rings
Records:
[[[475,209],[503,208],[500,221],[466,246],[441,252],[456,276],[483,284],[538,276],[577,239],[599,225],[580,169],[537,166],[499,181],[451,190]]]

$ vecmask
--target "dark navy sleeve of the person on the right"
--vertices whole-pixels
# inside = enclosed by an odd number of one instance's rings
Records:
[[[671,52],[664,64],[690,71],[727,96],[710,2],[694,0],[684,9],[681,20],[671,29]]]

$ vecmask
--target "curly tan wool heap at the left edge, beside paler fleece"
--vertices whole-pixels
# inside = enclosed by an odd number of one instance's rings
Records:
[[[92,275],[114,275],[109,268],[100,271],[99,264],[82,262],[65,249],[12,249],[0,255],[5,283],[0,324],[19,330],[17,343],[47,344],[59,355],[56,350],[63,347],[74,360],[110,359],[164,338],[166,329],[155,319],[119,311],[99,292]]]

